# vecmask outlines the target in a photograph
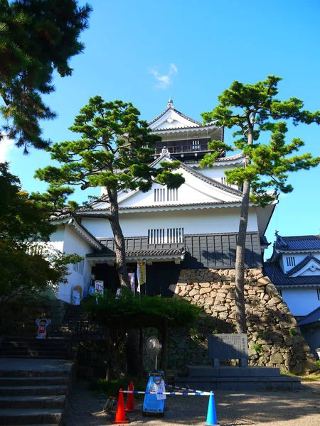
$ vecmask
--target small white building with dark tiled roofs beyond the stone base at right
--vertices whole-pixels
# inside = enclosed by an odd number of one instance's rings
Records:
[[[320,235],[281,236],[276,232],[264,269],[295,317],[320,307]]]

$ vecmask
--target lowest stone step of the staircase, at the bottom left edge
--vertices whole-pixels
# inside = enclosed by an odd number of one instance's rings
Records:
[[[63,419],[63,410],[59,408],[48,409],[0,409],[0,425],[60,425]]]

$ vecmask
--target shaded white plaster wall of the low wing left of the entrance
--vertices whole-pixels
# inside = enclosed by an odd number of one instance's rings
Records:
[[[85,256],[87,253],[92,252],[92,247],[83,241],[78,234],[76,234],[69,226],[65,227],[65,243],[63,246],[64,252],[67,254],[76,253],[79,256]],[[73,271],[73,265],[70,264],[68,271],[68,283],[60,283],[58,290],[58,299],[64,300],[68,303],[73,303],[72,290],[75,285],[81,285],[83,290],[87,290],[90,285],[91,266],[89,266],[87,259],[83,268],[83,275]]]

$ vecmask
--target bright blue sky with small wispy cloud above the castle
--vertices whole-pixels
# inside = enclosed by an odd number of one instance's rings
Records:
[[[84,2],[80,1],[80,4]],[[166,107],[200,119],[234,80],[254,83],[283,77],[279,98],[295,96],[310,110],[320,109],[319,12],[316,0],[236,1],[92,0],[86,48],[73,58],[72,77],[55,77],[56,92],[46,102],[58,119],[43,123],[52,141],[73,138],[68,127],[89,97],[131,101],[151,120]],[[227,133],[227,138],[230,133]],[[305,152],[320,155],[320,127],[290,126],[288,137],[306,142]],[[3,144],[2,158],[23,189],[44,190],[34,170],[50,164],[50,155]],[[319,234],[320,168],[296,173],[292,194],[280,197],[267,237]],[[92,190],[90,190],[92,194]],[[78,200],[86,194],[77,193]]]

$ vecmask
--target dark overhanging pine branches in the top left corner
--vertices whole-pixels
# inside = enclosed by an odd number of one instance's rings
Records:
[[[0,1],[0,108],[4,133],[17,146],[44,149],[40,120],[55,113],[41,95],[55,90],[53,71],[71,75],[69,60],[84,49],[81,32],[88,26],[91,6],[75,0]],[[1,131],[0,131],[1,138]]]

